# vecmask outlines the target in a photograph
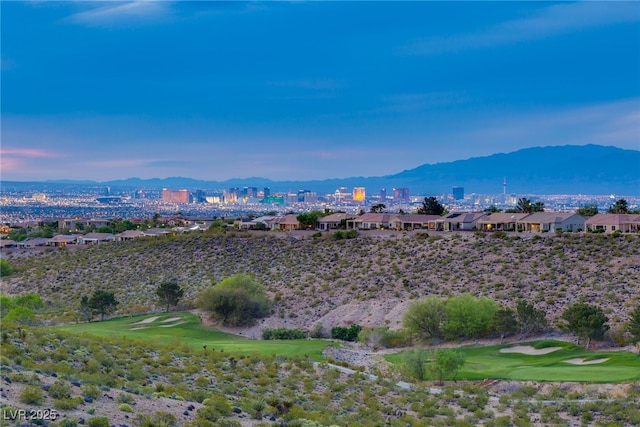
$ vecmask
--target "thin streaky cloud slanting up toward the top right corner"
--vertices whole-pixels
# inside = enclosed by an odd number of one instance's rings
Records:
[[[534,15],[506,21],[487,31],[452,37],[419,39],[399,49],[405,55],[432,55],[516,44],[578,30],[640,21],[637,2],[578,2],[558,4]]]

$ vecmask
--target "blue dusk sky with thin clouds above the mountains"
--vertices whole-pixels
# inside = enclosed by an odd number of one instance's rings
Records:
[[[639,2],[2,2],[2,180],[640,149]]]

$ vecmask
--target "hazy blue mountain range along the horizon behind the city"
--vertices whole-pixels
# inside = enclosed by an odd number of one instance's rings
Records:
[[[318,193],[339,187],[365,187],[370,194],[385,188],[407,187],[411,194],[451,193],[454,186],[466,193],[500,194],[618,194],[640,196],[640,151],[601,145],[533,147],[454,162],[424,164],[394,175],[316,181],[272,181],[266,178],[202,181],[172,177],[95,182],[55,181],[65,184],[108,185],[132,188],[223,189],[270,187],[275,191],[305,189]],[[50,181],[52,183],[54,181]]]

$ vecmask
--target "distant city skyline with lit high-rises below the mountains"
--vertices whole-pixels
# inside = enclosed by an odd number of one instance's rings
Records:
[[[466,193],[452,186],[446,194],[412,194],[411,189],[338,187],[318,194],[315,191],[272,191],[269,187],[232,187],[226,189],[144,188],[131,189],[96,185],[3,183],[0,192],[0,222],[6,226],[35,225],[59,218],[151,218],[154,215],[180,213],[186,217],[236,218],[266,213],[284,215],[314,210],[363,213],[378,205],[388,213],[415,213],[425,197],[434,196],[448,211],[511,209],[519,198],[544,203],[545,210],[574,212],[587,205],[605,212],[619,197],[616,195],[533,195],[507,192],[504,180],[501,194]],[[640,197],[625,197],[630,209],[637,210]],[[381,208],[379,205],[384,205]]]

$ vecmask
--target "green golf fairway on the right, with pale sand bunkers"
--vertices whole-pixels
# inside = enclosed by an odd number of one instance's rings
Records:
[[[500,349],[513,347],[506,344],[491,347],[463,347],[459,351],[465,356],[465,364],[458,373],[458,379],[483,380],[486,378],[504,380],[534,381],[576,381],[618,383],[640,380],[640,357],[629,352],[586,351],[583,347],[562,341],[545,340],[522,343],[534,348],[562,347],[544,355],[522,353],[500,353]],[[572,365],[566,360],[583,358],[587,360],[608,358],[606,362],[593,365]],[[402,353],[386,356],[394,364],[402,364]]]

